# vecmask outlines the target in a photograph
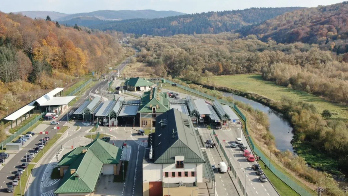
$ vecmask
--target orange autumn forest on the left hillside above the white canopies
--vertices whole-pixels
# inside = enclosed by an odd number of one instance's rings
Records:
[[[0,118],[122,54],[117,33],[0,12]]]

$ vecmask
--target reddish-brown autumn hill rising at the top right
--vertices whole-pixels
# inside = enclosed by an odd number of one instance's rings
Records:
[[[340,45],[348,38],[347,22],[346,1],[329,6],[294,10],[260,25],[242,28],[239,32],[244,36],[258,35],[263,41],[273,39],[281,43],[304,42],[319,45],[334,41]],[[335,44],[328,47],[333,49]]]

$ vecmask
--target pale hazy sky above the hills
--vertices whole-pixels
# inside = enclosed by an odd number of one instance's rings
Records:
[[[66,14],[96,10],[173,10],[187,14],[251,7],[317,7],[343,0],[1,0],[0,11],[55,11]]]

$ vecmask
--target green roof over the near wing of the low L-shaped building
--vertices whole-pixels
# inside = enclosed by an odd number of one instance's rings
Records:
[[[87,150],[70,165],[54,193],[92,193],[102,168],[102,161],[92,151]],[[70,174],[70,169],[76,169],[76,172]]]

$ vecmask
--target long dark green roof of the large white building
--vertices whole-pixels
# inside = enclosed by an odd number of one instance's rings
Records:
[[[184,156],[185,163],[205,163],[191,118],[171,109],[156,118],[155,164],[175,163],[175,156]]]

